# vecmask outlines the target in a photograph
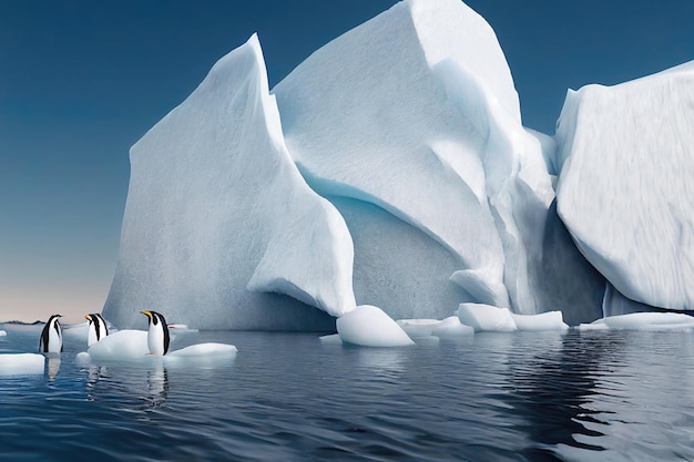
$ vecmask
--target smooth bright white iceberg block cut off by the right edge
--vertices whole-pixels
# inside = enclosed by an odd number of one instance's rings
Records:
[[[694,309],[694,61],[569,91],[557,141],[559,214],[631,300]]]

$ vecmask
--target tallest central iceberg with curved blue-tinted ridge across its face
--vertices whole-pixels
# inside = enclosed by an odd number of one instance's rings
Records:
[[[273,93],[290,155],[346,216],[357,302],[396,318],[440,319],[466,299],[542,308],[527,253],[541,247],[551,179],[479,14],[457,0],[399,2],[313,53]],[[421,233],[411,254],[399,251],[406,232],[390,233],[385,215]],[[397,237],[378,239],[386,233],[375,228]],[[427,250],[440,269],[415,277]],[[367,287],[376,280],[388,284]]]

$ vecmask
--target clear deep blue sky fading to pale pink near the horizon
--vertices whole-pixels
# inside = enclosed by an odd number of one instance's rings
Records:
[[[0,321],[100,311],[129,148],[257,32],[271,86],[389,0],[0,0]],[[470,0],[494,28],[527,126],[567,89],[694,60],[694,2]]]

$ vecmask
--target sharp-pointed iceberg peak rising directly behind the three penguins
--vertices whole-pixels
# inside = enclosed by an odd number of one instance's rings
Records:
[[[132,147],[131,166],[103,310],[116,326],[156,309],[196,329],[327,329],[326,314],[356,307],[349,232],[287,153],[256,35]]]

